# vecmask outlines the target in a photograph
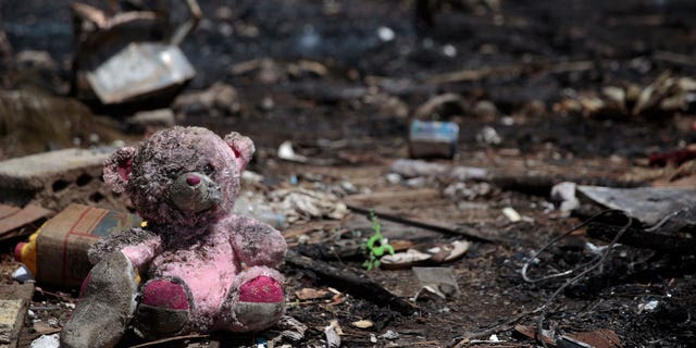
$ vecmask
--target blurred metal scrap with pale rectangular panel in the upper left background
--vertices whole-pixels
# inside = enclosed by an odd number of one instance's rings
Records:
[[[108,15],[73,3],[73,94],[86,100],[96,95],[103,104],[172,99],[196,74],[177,45],[197,27],[202,14],[195,0],[186,4],[190,18],[171,29],[169,9]]]

